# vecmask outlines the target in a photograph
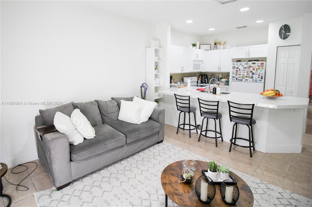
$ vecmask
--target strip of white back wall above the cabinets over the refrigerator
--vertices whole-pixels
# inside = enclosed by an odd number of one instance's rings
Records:
[[[203,42],[205,44],[210,44],[213,49],[215,39],[221,43],[226,41],[225,45],[231,45],[232,47],[267,44],[268,27],[253,30],[238,29],[237,32],[233,33],[204,36]]]

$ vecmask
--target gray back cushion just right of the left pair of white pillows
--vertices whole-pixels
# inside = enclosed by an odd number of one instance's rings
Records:
[[[78,106],[81,113],[86,116],[92,126],[102,125],[101,115],[98,109],[98,102],[86,102],[86,103],[75,103],[74,106]]]

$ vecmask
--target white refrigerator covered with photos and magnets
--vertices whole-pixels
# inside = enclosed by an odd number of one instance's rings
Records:
[[[229,91],[256,93],[264,91],[266,62],[232,63]]]

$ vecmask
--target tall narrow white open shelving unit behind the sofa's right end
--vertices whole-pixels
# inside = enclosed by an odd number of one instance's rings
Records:
[[[146,100],[155,101],[158,108],[163,108],[163,95],[159,93],[164,89],[164,49],[146,48],[146,83],[149,86]]]

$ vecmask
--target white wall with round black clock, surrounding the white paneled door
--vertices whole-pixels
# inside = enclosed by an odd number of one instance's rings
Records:
[[[265,88],[274,87],[277,47],[301,45],[299,69],[300,81],[297,87],[297,97],[309,97],[312,57],[311,17],[312,15],[310,13],[304,15],[303,17],[284,19],[281,21],[271,22],[269,24],[268,58]],[[280,39],[278,36],[279,28],[283,24],[288,24],[291,27],[291,35],[285,40]]]

